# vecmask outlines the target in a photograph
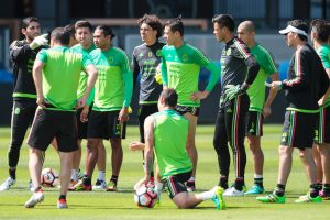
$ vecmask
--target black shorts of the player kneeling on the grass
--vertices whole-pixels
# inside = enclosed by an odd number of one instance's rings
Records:
[[[193,170],[177,174],[174,176],[168,176],[163,179],[165,186],[168,189],[167,194],[170,199],[173,199],[179,193],[187,191],[185,183],[189,180],[191,174]]]

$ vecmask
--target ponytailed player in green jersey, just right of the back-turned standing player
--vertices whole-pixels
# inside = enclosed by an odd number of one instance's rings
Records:
[[[99,25],[94,32],[97,50],[90,53],[99,77],[95,85],[95,100],[88,122],[86,174],[70,190],[91,190],[91,175],[98,157],[99,143],[110,140],[112,176],[107,191],[116,191],[122,164],[121,139],[124,139],[125,121],[133,90],[133,77],[127,54],[113,47],[111,40],[116,35],[106,25]],[[84,118],[82,118],[84,120]]]

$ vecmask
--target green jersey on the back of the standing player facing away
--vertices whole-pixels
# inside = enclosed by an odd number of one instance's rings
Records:
[[[56,46],[42,50],[36,59],[44,63],[43,94],[56,110],[73,111],[81,70],[92,64],[87,53]]]

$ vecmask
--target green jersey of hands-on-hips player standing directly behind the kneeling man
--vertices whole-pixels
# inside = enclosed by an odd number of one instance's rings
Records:
[[[162,48],[162,75],[166,80],[163,84],[178,94],[178,105],[199,107],[200,100],[190,100],[190,96],[198,91],[200,67],[207,67],[211,62],[196,47],[184,43],[179,48],[165,45]],[[220,68],[212,69],[212,87],[216,85]],[[162,76],[164,78],[164,76]]]

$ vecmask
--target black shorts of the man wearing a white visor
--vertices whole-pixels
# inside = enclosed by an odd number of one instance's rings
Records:
[[[300,150],[312,147],[317,113],[285,112],[280,144]]]

